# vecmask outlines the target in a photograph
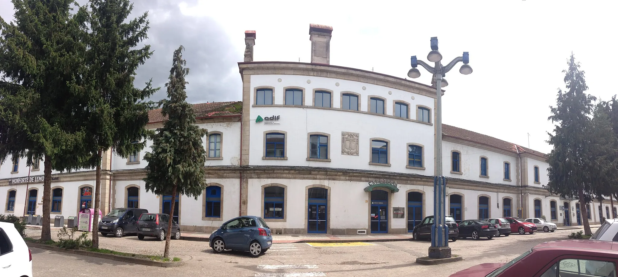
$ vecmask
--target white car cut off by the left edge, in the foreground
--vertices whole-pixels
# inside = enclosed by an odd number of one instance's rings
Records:
[[[32,277],[32,252],[8,222],[0,222],[0,276]]]

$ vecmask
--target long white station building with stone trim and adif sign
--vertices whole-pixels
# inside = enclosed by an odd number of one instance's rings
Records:
[[[310,25],[311,63],[254,62],[255,31],[239,62],[242,101],[195,104],[208,129],[208,188],[180,196],[184,231],[211,232],[239,215],[265,218],[281,234],[408,233],[433,215],[436,89],[329,64],[332,28]],[[163,126],[160,110],[148,128]],[[575,199],[553,196],[546,154],[455,126],[442,126],[447,212],[456,220],[545,217],[580,225]],[[101,209],[169,213],[170,196],[146,192],[150,145],[103,161]],[[0,167],[4,214],[41,215],[43,170],[25,160]],[[92,207],[94,170],[53,172],[51,216]],[[618,205],[618,203],[617,203]],[[590,204],[592,223],[613,218],[609,200]],[[614,212],[610,215],[610,210]]]

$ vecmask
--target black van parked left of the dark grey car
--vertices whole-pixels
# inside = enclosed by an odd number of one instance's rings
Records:
[[[137,233],[137,219],[142,213],[148,213],[146,209],[137,208],[116,208],[111,210],[99,221],[99,232],[107,236],[114,234],[116,238],[121,238],[124,234]]]

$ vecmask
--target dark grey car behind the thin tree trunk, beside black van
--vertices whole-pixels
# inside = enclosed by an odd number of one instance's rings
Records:
[[[180,239],[180,225],[174,221],[172,225],[172,239]],[[137,238],[155,237],[159,241],[165,240],[165,232],[169,226],[167,213],[142,213],[137,221]]]

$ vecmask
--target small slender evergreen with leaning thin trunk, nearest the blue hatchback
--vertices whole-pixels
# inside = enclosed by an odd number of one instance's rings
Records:
[[[144,178],[146,191],[172,196],[163,254],[166,258],[169,256],[176,194],[193,196],[197,200],[206,188],[206,151],[202,138],[208,131],[195,125],[193,106],[186,101],[185,76],[189,68],[185,68],[187,61],[182,59],[183,50],[184,47],[180,46],[174,51],[169,81],[165,84],[169,100],[159,102],[162,105],[161,114],[167,120],[153,135],[152,152],[144,155],[144,160],[148,162]]]

